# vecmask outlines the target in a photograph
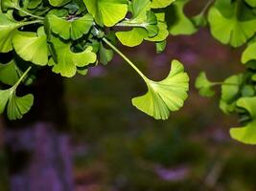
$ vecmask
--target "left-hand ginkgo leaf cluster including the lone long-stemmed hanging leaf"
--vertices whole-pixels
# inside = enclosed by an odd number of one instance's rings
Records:
[[[170,33],[195,31],[182,13],[187,0],[1,0],[0,53],[12,60],[0,65],[0,114],[21,118],[33,106],[34,96],[16,96],[20,84],[33,83],[32,76],[49,67],[64,77],[87,74],[90,67],[107,64],[121,55],[148,86],[148,93],[132,99],[139,110],[156,119],[167,119],[187,98],[189,77],[174,60],[170,74],[152,81],[121,53],[117,41],[128,47],[144,40],[164,51]],[[167,12],[175,22],[167,23]],[[170,16],[170,15],[169,15]],[[35,97],[36,98],[36,97]]]

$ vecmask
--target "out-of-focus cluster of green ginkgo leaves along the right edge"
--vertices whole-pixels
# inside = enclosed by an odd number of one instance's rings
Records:
[[[247,45],[242,54],[246,71],[231,75],[222,82],[212,82],[202,72],[198,75],[196,87],[201,96],[214,96],[213,87],[221,85],[221,111],[238,114],[244,125],[231,128],[231,137],[256,144],[256,1],[217,0],[208,11],[208,23],[212,35],[221,43],[234,48]]]

